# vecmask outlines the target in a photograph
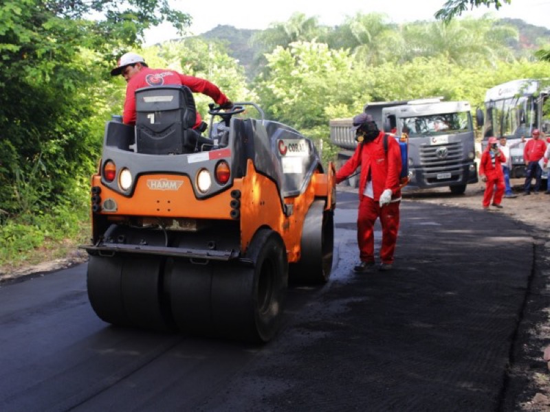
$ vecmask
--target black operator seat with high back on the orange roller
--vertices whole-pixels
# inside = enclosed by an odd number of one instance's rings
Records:
[[[144,87],[135,91],[135,136],[138,153],[180,155],[208,150],[212,141],[192,127],[197,109],[186,86]]]

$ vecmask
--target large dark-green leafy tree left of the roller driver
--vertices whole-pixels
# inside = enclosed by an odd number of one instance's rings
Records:
[[[113,96],[107,68],[164,20],[184,30],[189,16],[167,0],[0,3],[0,209],[21,211],[18,185],[30,176],[39,211],[84,187],[75,176],[93,168]]]

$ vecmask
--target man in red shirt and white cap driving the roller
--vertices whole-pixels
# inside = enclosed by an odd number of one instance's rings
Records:
[[[124,100],[124,112],[122,113],[122,122],[125,124],[135,124],[135,91],[142,87],[181,84],[187,86],[194,93],[203,93],[209,96],[221,108],[232,107],[232,102],[227,96],[221,93],[220,89],[208,80],[186,76],[174,70],[150,69],[144,58],[139,54],[123,54],[120,60],[118,60],[117,67],[111,70],[111,76],[118,76],[119,74],[128,83],[126,86],[126,100]],[[201,115],[197,112],[197,122],[193,128],[200,128],[201,124]]]

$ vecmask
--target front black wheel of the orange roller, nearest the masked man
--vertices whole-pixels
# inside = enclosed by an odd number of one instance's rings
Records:
[[[314,201],[307,211],[300,241],[300,261],[289,266],[293,284],[325,284],[332,270],[334,248],[333,211],[325,201]]]

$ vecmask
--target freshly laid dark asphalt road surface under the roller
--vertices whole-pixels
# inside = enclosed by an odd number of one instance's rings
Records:
[[[1,284],[0,411],[519,410],[526,227],[404,201],[393,271],[357,275],[357,207],[338,193],[331,280],[263,346],[107,325],[86,264]]]

